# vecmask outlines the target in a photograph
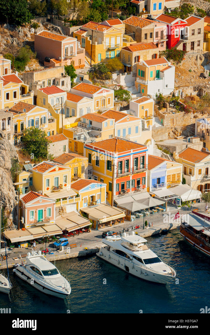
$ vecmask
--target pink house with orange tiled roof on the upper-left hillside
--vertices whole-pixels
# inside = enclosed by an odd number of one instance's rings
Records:
[[[45,66],[73,65],[75,69],[85,67],[85,49],[80,42],[70,36],[42,30],[34,35],[34,48],[37,57]]]

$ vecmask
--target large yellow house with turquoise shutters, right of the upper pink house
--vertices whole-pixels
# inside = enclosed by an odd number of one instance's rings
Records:
[[[120,26],[122,26],[121,22]],[[76,37],[81,47],[85,48],[86,60],[89,64],[92,50],[93,65],[120,56],[120,50],[123,46],[123,32],[124,28],[118,28],[117,25],[110,26],[107,23],[90,21],[74,31],[73,37]]]

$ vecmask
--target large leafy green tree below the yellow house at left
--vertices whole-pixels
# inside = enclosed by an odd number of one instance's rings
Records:
[[[48,154],[50,141],[47,134],[39,128],[26,128],[23,132],[22,143],[23,152],[30,155],[34,161],[53,158],[51,154]]]

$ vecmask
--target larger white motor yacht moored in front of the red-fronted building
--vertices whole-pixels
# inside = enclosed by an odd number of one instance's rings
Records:
[[[150,250],[147,240],[134,235],[134,231],[131,235],[124,232],[121,237],[119,235],[106,237],[103,243],[106,246],[96,255],[138,278],[166,284],[176,276],[176,271],[163,263]]]

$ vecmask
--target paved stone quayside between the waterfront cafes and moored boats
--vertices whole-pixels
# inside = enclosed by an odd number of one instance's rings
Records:
[[[205,214],[205,203],[204,202],[196,203],[194,205],[193,209],[195,209],[195,208],[198,208],[200,213]],[[151,215],[150,217],[145,217],[145,221],[147,220],[147,222],[151,222],[151,225],[153,225],[154,227],[155,226],[158,227],[160,224],[163,224],[163,223],[165,223],[165,227],[167,227],[167,217],[166,217],[166,215],[168,215],[169,220],[170,220],[170,217],[171,217],[171,221],[169,221],[169,223],[173,222],[173,218],[174,218],[175,214],[177,213],[177,211],[178,211],[178,209],[174,207],[174,209],[171,210],[171,212],[158,213],[158,214],[155,214],[155,215]],[[179,209],[180,214],[186,214],[186,213],[189,214],[191,211],[192,211],[192,207],[191,208],[182,207],[181,209]],[[209,209],[209,213],[207,213],[207,215],[210,216],[210,209]],[[87,233],[83,233],[79,236],[71,237],[71,238],[69,238],[69,244],[76,244],[77,247],[82,247],[82,249],[84,249],[85,247],[88,247],[89,245],[93,245],[93,243],[95,243],[95,242],[96,243],[101,242],[103,231],[112,230],[112,231],[118,232],[118,231],[122,230],[123,228],[125,228],[125,230],[127,230],[127,227],[129,227],[130,225],[133,225],[133,226],[140,225],[140,229],[136,230],[139,233],[145,231],[145,230],[143,230],[143,219],[136,219],[133,222],[125,220],[125,222],[123,224],[119,224],[117,226],[106,227],[105,229],[100,230],[100,231],[92,229],[92,231],[90,233],[87,232]],[[48,249],[50,248],[51,251],[54,252],[54,247],[53,247],[52,242],[47,243],[47,248]],[[66,248],[67,247],[64,247],[64,249],[66,249]],[[37,245],[36,251],[44,250],[44,249],[45,249],[45,244],[44,245],[40,244],[40,245]],[[8,263],[9,264],[15,263],[15,261],[12,258],[14,258],[14,257],[19,258],[19,255],[26,254],[30,251],[31,251],[30,247],[21,248],[21,249],[15,248],[12,251],[10,257],[8,258]],[[56,251],[55,251],[55,253],[58,254]],[[19,260],[18,260],[18,262],[19,262]],[[5,265],[6,261],[1,262],[1,264]]]

